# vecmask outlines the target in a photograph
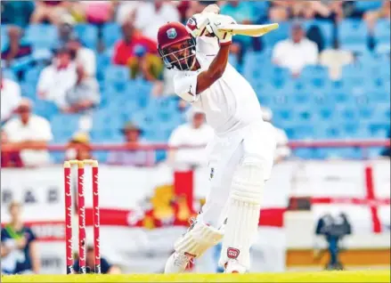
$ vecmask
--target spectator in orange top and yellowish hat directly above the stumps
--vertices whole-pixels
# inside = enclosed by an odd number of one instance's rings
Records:
[[[69,141],[67,148],[68,150],[65,152],[66,160],[94,159],[88,133],[75,133]]]

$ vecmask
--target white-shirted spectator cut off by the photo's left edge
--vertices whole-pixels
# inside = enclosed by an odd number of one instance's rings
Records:
[[[1,78],[1,122],[4,123],[10,117],[20,103],[20,85],[9,78]]]

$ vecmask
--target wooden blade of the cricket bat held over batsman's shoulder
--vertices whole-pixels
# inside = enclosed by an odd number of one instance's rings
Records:
[[[226,24],[218,28],[220,31],[232,32],[233,35],[240,36],[264,36],[279,27],[278,23],[267,25],[240,25],[240,24]]]

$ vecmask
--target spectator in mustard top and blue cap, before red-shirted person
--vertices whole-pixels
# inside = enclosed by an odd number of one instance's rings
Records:
[[[147,53],[143,45],[134,46],[134,57],[129,59],[130,76],[156,82],[163,76],[164,64],[156,54]]]

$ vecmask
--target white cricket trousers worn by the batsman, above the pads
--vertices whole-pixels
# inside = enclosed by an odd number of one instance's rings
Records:
[[[220,228],[228,212],[232,176],[241,160],[260,160],[267,180],[272,173],[275,147],[274,129],[262,120],[224,136],[215,135],[206,149],[210,188],[198,220]]]

